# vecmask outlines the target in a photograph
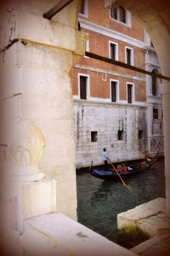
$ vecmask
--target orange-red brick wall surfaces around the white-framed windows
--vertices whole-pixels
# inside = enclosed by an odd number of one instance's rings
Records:
[[[88,18],[80,15],[80,18],[83,20],[88,20],[102,27],[109,28],[110,30],[123,33],[127,35],[129,38],[133,37],[134,39],[140,40],[144,42],[144,29],[139,24],[139,22],[131,15],[131,27],[121,24],[117,22],[117,20],[113,20],[110,18],[109,9],[104,7],[105,1],[88,1]],[[109,58],[110,49],[109,42],[114,41],[117,44],[118,48],[118,61],[125,62],[125,47],[129,47],[133,49],[133,66],[143,68],[144,69],[144,51],[142,48],[134,46],[133,44],[125,43],[122,40],[118,40],[116,38],[108,37],[107,35],[100,34],[99,32],[89,31],[87,29],[82,28],[82,32],[88,33],[88,42],[89,42],[89,51],[105,56]],[[123,73],[133,77],[144,78],[144,74],[137,73],[133,70],[125,69],[123,67],[117,67],[115,65],[94,60],[91,58],[82,58],[79,62],[79,65],[83,65],[86,67],[95,67],[106,71],[111,71],[115,73]],[[71,71],[72,76],[72,88],[73,95],[78,95],[77,90],[77,73],[87,73],[90,75],[90,96],[99,97],[99,98],[109,98],[110,97],[110,79],[113,77],[111,75],[107,76],[107,81],[102,80],[102,73],[98,72],[89,72],[83,71],[81,69],[75,68]],[[122,79],[120,77],[114,76],[114,79],[120,81],[120,99],[126,101],[126,82],[135,84],[135,100],[137,102],[145,102],[145,83],[138,80],[133,79]]]

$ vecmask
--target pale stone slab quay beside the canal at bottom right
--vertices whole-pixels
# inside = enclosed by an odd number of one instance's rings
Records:
[[[137,224],[150,235],[150,239],[131,248],[133,253],[142,256],[170,255],[170,218],[167,217],[166,199],[157,198],[117,215],[117,226]]]

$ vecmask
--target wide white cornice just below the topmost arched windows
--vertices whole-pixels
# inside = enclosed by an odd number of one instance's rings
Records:
[[[135,38],[131,38],[125,34],[122,34],[121,32],[116,32],[114,30],[111,30],[110,28],[107,28],[104,26],[99,26],[99,25],[97,25],[93,22],[90,22],[88,20],[82,20],[81,18],[79,18],[78,20],[80,22],[80,26],[89,31],[98,32],[99,34],[105,35],[106,37],[120,40],[127,44],[131,44],[131,45],[139,47],[139,48],[144,48],[144,46],[145,46],[143,41],[140,41]]]

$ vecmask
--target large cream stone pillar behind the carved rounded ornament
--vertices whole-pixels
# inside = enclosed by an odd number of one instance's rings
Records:
[[[6,145],[7,150],[10,148],[14,123],[29,121],[37,125],[46,142],[39,166],[48,179],[57,183],[55,211],[76,220],[70,71],[84,55],[88,38],[77,30],[79,3],[74,0],[52,20],[46,20],[43,14],[53,8],[56,1],[5,1],[1,6],[0,43],[3,71],[0,144]],[[20,134],[18,136],[20,141]],[[24,154],[27,152],[21,148],[20,159]],[[13,185],[15,187],[11,183]]]

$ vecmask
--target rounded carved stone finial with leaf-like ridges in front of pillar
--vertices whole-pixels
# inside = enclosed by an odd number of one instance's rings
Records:
[[[37,125],[29,121],[17,122],[8,143],[9,165],[13,168],[12,175],[22,177],[23,181],[42,179],[44,172],[38,168],[38,163],[44,148],[45,139]]]

